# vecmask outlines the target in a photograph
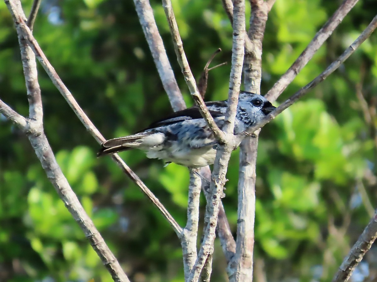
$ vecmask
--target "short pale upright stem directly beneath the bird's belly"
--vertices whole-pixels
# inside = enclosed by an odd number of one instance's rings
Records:
[[[183,267],[185,281],[189,278],[190,271],[196,260],[196,240],[199,224],[199,196],[201,190],[201,178],[197,170],[190,171],[189,201],[187,205],[187,224],[181,233],[181,245],[183,253]]]

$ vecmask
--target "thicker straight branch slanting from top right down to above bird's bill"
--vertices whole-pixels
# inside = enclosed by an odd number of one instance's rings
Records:
[[[339,8],[335,11],[333,16],[325,23],[325,25],[316,33],[312,41],[303,50],[301,55],[294,61],[291,67],[283,74],[279,80],[267,92],[265,97],[274,102],[277,97],[284,91],[285,88],[292,82],[303,67],[313,58],[319,47],[326,41],[326,39],[333,33],[334,29],[342,22],[343,18],[356,5],[358,0],[344,0]]]

